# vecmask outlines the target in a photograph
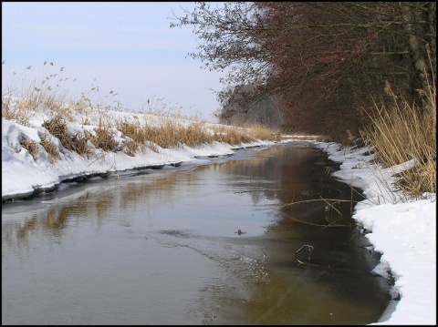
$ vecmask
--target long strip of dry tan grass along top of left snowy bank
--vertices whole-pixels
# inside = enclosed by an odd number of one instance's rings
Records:
[[[154,105],[155,109],[152,111],[149,107],[149,113],[143,113],[143,121],[138,118],[141,114],[134,112],[130,115],[134,119],[119,118],[117,115],[115,118],[111,111],[121,111],[120,107],[123,106],[116,100],[113,103],[117,102],[117,107],[108,105],[99,95],[99,86],[93,83],[80,97],[71,96],[68,86],[76,78],[65,77],[64,67],[57,68],[52,62],[45,62],[43,66],[41,77],[30,82],[26,80],[26,73],[33,68],[27,66],[17,78],[22,81],[22,86],[16,87],[13,81],[13,85],[2,94],[3,118],[33,127],[30,118],[44,117],[41,126],[47,129],[47,135],[41,139],[41,147],[34,141],[24,139],[22,142],[34,158],[38,158],[36,155],[43,148],[51,160],[60,158],[54,138],[64,148],[88,157],[92,155],[93,148],[105,152],[122,150],[135,156],[139,151],[144,153],[146,148],[157,152],[158,147],[178,148],[182,144],[197,147],[214,141],[236,145],[257,139],[281,139],[278,132],[259,125],[240,128],[209,124],[197,117],[183,118],[179,113],[172,113],[174,108],[167,107],[162,99],[154,101],[153,97],[151,106]],[[111,90],[103,98],[112,99],[115,96],[117,93]],[[100,100],[96,101],[96,98]],[[124,112],[129,111],[125,109]],[[81,119],[79,122],[78,117]],[[92,117],[99,117],[99,123],[93,121]],[[78,132],[75,128],[69,128],[70,123],[88,127],[94,125],[94,128]],[[116,139],[118,131],[122,135],[120,139]]]

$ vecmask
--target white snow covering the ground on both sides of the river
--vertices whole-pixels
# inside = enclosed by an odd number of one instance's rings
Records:
[[[20,145],[21,137],[38,140],[37,128],[28,128],[2,118],[2,200],[20,199],[36,191],[55,189],[60,182],[80,176],[112,174],[162,165],[196,162],[205,157],[228,156],[238,148],[269,146],[273,142],[257,141],[231,146],[214,142],[201,147],[159,148],[135,157],[124,153],[96,153],[84,158],[68,153],[56,163],[50,158],[35,160]],[[287,140],[293,142],[293,140]],[[381,262],[372,271],[395,280],[393,301],[375,324],[436,324],[436,194],[424,194],[424,199],[407,199],[396,191],[394,173],[410,167],[377,169],[371,164],[368,148],[345,148],[337,143],[308,140],[328,157],[340,162],[333,173],[364,190],[366,197],[355,208],[353,219],[361,226],[374,250],[382,253]],[[395,310],[394,310],[395,307]]]

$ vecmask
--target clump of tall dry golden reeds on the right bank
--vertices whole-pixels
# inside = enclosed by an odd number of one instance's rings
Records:
[[[405,98],[398,97],[389,84],[385,91],[391,97],[391,107],[375,104],[372,114],[369,113],[371,123],[362,130],[361,136],[385,167],[413,161],[412,168],[394,171],[400,177],[396,186],[405,195],[422,199],[424,193],[436,192],[434,77],[433,84],[428,89],[421,90],[421,104],[410,103]]]

